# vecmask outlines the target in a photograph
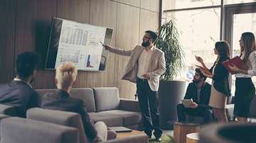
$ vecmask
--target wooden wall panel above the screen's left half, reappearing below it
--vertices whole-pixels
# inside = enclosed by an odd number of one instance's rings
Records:
[[[58,0],[57,17],[89,23],[90,0]],[[78,77],[73,87],[86,87],[87,71],[78,71]]]

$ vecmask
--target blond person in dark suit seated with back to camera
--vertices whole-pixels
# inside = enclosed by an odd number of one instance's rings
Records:
[[[92,125],[90,117],[82,99],[70,96],[70,89],[75,84],[78,69],[72,62],[64,62],[56,69],[55,84],[58,88],[53,93],[43,95],[42,108],[52,110],[64,110],[79,113],[85,134],[90,142],[103,142],[107,140],[107,126],[104,122],[96,122]],[[105,132],[106,131],[106,132]]]

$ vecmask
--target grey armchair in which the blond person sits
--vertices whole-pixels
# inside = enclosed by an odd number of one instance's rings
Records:
[[[44,122],[52,122],[59,125],[65,125],[70,127],[75,127],[80,132],[80,143],[87,143],[88,139],[85,135],[85,131],[82,125],[82,119],[78,113],[72,113],[60,110],[48,110],[43,108],[31,108],[27,110],[27,118],[32,120],[41,120]],[[130,137],[124,137],[122,139],[115,139],[115,132],[108,130],[107,132],[107,142],[149,142],[146,135],[134,135]],[[110,137],[111,136],[111,137]],[[106,143],[107,143],[106,142]]]

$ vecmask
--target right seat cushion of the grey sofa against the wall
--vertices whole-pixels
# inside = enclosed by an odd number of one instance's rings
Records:
[[[123,118],[123,125],[134,125],[139,124],[140,122],[143,122],[142,113],[139,112],[133,112],[128,110],[106,110],[102,113],[108,114],[108,115],[119,115]]]

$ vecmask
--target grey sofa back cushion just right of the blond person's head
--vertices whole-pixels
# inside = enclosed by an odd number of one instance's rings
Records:
[[[85,101],[85,108],[88,113],[96,112],[95,98],[92,88],[71,88],[70,95]]]

